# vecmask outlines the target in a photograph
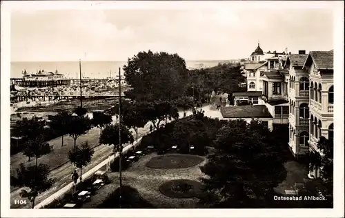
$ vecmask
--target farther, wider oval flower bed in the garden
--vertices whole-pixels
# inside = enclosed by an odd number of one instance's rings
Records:
[[[160,155],[152,157],[146,167],[162,169],[179,169],[196,166],[204,161],[204,158],[195,155]]]

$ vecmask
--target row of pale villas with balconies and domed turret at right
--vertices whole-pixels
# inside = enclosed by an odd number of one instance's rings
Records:
[[[272,118],[265,117],[272,119],[269,126],[288,124],[286,134],[293,155],[298,159],[320,152],[320,137],[333,139],[333,50],[274,52],[265,61],[263,54],[258,46],[244,64],[248,92],[235,93],[235,100],[261,91],[257,104],[270,112]],[[321,177],[319,168],[311,166],[308,176]]]

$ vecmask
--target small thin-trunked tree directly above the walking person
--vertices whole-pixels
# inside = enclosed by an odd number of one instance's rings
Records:
[[[92,150],[88,146],[88,141],[86,141],[81,148],[78,146],[75,150],[70,150],[68,152],[68,159],[70,159],[71,163],[75,164],[77,168],[80,169],[80,181],[81,181],[81,168],[83,166],[87,166],[90,163],[94,150]]]

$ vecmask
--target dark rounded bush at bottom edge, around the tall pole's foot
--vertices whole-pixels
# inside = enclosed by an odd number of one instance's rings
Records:
[[[112,192],[97,208],[119,208],[119,188]],[[121,208],[155,208],[130,186],[121,188]]]

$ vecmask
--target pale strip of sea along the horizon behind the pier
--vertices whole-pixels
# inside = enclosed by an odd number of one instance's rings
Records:
[[[211,68],[218,63],[227,63],[228,60],[186,61],[187,68]],[[119,68],[127,64],[127,61],[81,61],[82,78],[103,79],[115,77]],[[23,71],[36,73],[39,70],[63,74],[68,79],[79,79],[79,61],[37,61],[37,62],[11,62],[11,78],[23,77]]]

